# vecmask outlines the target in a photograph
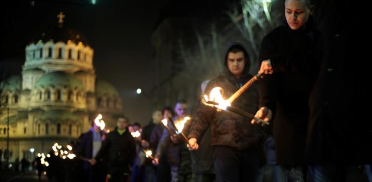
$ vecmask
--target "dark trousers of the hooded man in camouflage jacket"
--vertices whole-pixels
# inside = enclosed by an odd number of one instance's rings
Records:
[[[225,146],[212,147],[216,182],[254,182],[260,165],[259,150],[237,150]]]

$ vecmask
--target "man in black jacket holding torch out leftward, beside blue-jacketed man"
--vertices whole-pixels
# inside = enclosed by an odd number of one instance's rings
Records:
[[[136,144],[134,138],[126,129],[128,120],[125,117],[119,117],[117,127],[109,132],[91,164],[100,160],[107,152],[109,154],[109,167],[107,178],[109,182],[126,182],[130,175],[130,167],[136,155]]]

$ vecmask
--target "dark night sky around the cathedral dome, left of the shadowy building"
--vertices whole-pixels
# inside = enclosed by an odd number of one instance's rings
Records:
[[[132,122],[147,123],[152,107],[150,95],[146,94],[153,87],[155,74],[151,69],[150,38],[164,3],[98,0],[91,5],[66,1],[36,0],[32,6],[30,1],[15,0],[5,6],[0,14],[1,70],[20,74],[26,45],[35,34],[56,26],[57,14],[63,12],[64,26],[82,33],[93,48],[97,79],[109,81],[118,89],[123,97],[124,114]],[[137,95],[139,87],[144,94]]]

